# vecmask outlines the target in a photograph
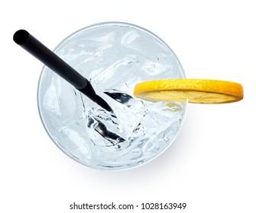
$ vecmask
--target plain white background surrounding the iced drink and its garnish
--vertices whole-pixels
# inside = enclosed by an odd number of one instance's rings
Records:
[[[186,202],[185,211],[154,212],[256,212],[254,1],[0,4],[1,212],[87,212],[71,211],[73,202],[139,207],[142,202]],[[109,172],[77,164],[53,144],[41,124],[37,81],[43,65],[12,36],[24,28],[54,49],[73,31],[102,21],[151,30],[177,54],[187,78],[239,82],[244,100],[190,104],[177,140],[143,167]]]

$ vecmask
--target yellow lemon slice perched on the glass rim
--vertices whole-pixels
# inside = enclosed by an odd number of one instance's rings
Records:
[[[231,103],[243,99],[241,84],[208,79],[165,79],[144,81],[134,87],[134,96],[157,101]]]

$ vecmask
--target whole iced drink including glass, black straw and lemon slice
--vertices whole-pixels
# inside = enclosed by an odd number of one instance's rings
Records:
[[[186,103],[244,97],[235,82],[185,79],[170,47],[132,24],[86,27],[55,53],[26,30],[13,40],[48,67],[41,74],[38,106],[50,138],[96,169],[138,167],[157,157],[177,136]]]

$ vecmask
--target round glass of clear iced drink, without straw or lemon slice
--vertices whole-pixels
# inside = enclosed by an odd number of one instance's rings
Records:
[[[138,167],[176,138],[186,103],[134,98],[141,81],[185,78],[172,49],[144,28],[108,22],[78,30],[54,50],[87,78],[114,113],[43,68],[37,103],[53,142],[73,160],[99,170]]]

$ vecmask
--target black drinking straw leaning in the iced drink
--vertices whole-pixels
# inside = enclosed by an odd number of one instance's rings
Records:
[[[26,30],[18,30],[14,36],[13,40],[19,46],[27,50],[34,57],[39,59],[44,63],[48,68],[50,68],[53,72],[56,72],[57,75],[60,75],[66,81],[70,82],[77,90],[81,93],[85,94],[92,101],[102,106],[105,110],[112,112],[111,107],[102,97],[96,94],[92,85],[87,81],[83,75],[80,75],[76,70],[74,70],[70,65],[60,59],[54,52],[44,46],[39,40],[34,38],[28,31]]]

